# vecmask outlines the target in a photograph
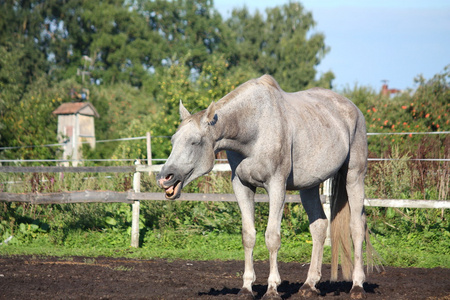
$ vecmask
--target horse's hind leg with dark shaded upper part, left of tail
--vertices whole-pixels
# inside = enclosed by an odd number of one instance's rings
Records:
[[[320,202],[318,186],[300,191],[300,197],[303,207],[308,214],[313,249],[308,277],[299,292],[303,297],[310,297],[318,293],[315,286],[322,277],[323,246],[327,235],[328,221]]]

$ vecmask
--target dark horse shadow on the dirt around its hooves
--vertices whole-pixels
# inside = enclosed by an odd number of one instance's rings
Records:
[[[290,283],[289,281],[283,281],[278,286],[278,293],[283,299],[290,299],[293,295],[297,294],[300,290],[302,283]],[[368,294],[375,294],[375,289],[379,287],[378,284],[364,283],[364,290]],[[341,294],[349,294],[352,289],[352,283],[349,281],[337,281],[330,282],[324,281],[317,285],[317,289],[320,291],[319,296],[326,296],[328,294],[339,296]],[[238,288],[227,288],[224,287],[221,290],[210,289],[209,292],[199,292],[199,296],[223,296],[223,295],[237,295],[239,293]],[[256,284],[253,286],[253,293],[255,299],[261,299],[267,291],[267,284],[261,285]]]

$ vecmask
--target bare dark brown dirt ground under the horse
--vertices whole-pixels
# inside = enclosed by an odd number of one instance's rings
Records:
[[[283,299],[296,299],[308,264],[280,263]],[[233,299],[242,261],[166,261],[119,258],[0,256],[0,299]],[[257,261],[254,292],[267,289],[269,263]],[[351,283],[330,283],[323,267],[316,299],[349,299]],[[450,269],[386,267],[364,286],[367,299],[450,300]]]

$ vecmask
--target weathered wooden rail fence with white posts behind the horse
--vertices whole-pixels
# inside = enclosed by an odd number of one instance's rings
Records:
[[[139,213],[140,201],[160,200],[165,201],[164,193],[141,193],[141,172],[159,172],[162,165],[140,165],[123,167],[9,167],[0,166],[0,173],[52,173],[52,172],[89,172],[89,173],[122,173],[134,172],[133,189],[127,192],[113,191],[77,191],[48,194],[16,194],[0,192],[0,201],[28,202],[31,204],[62,204],[62,203],[91,203],[91,202],[123,202],[132,205],[131,246],[139,247]],[[216,164],[213,172],[230,171],[228,164]],[[325,184],[324,194],[321,200],[328,220],[330,219],[329,182]],[[236,202],[234,194],[200,194],[182,193],[177,201],[225,201]],[[255,195],[256,202],[268,202],[269,197],[264,194]],[[286,195],[286,202],[300,202],[299,195]],[[407,200],[407,199],[365,199],[366,206],[377,207],[408,207],[408,208],[450,208],[450,201],[443,200]]]

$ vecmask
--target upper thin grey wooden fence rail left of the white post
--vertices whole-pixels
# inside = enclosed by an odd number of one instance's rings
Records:
[[[128,173],[135,172],[135,166],[117,167],[12,167],[0,166],[0,173]]]

